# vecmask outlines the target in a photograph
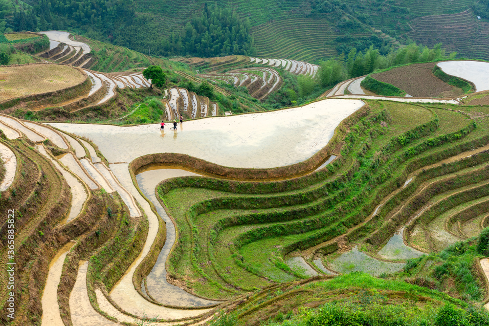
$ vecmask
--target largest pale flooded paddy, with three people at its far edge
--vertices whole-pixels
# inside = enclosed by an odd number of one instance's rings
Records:
[[[363,105],[360,100],[326,99],[292,109],[186,121],[178,137],[161,137],[159,124],[50,125],[88,136],[112,163],[178,152],[224,166],[271,168],[311,157],[327,145],[338,124]]]

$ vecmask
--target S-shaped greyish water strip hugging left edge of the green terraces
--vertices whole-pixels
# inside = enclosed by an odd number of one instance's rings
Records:
[[[155,266],[146,277],[146,286],[148,287],[148,294],[151,295],[156,301],[162,304],[178,303],[180,306],[205,306],[216,304],[209,300],[198,298],[178,286],[170,284],[166,281],[166,268],[165,263],[170,253],[170,249],[175,243],[176,231],[175,225],[172,220],[166,214],[164,208],[156,199],[155,188],[162,180],[184,175],[199,175],[185,170],[179,169],[148,169],[145,172],[136,175],[136,181],[141,189],[141,192],[146,196],[156,207],[158,215],[166,223],[166,241],[165,245],[161,249]]]

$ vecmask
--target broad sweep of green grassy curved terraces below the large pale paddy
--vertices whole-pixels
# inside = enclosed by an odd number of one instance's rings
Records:
[[[359,133],[356,137],[359,144],[343,147],[357,153],[359,162],[356,163],[355,159],[351,163],[337,161],[336,165],[326,167],[329,172],[322,174],[324,179],[316,175],[316,181],[312,181],[314,178],[309,176],[309,179],[304,179],[309,180],[308,187],[296,191],[290,189],[289,195],[256,192],[267,183],[259,187],[257,184],[234,184],[233,181],[214,183],[199,177],[163,183],[158,190],[160,198],[180,231],[180,239],[169,260],[171,277],[185,282],[204,297],[226,298],[252,291],[257,284],[265,286],[269,282],[298,277],[300,273],[289,270],[281,262],[283,255],[296,249],[305,249],[344,233],[351,235],[348,240],[356,241],[377,228],[380,238],[377,239],[374,233],[366,240],[376,239],[376,243],[387,241],[400,223],[394,222],[390,226],[393,222],[387,213],[406,200],[418,184],[414,181],[408,183],[400,196],[381,206],[378,214],[370,220],[368,212],[373,212],[382,198],[404,185],[405,177],[412,171],[433,164],[444,155],[447,158],[460,149],[485,145],[489,140],[475,138],[483,131],[474,129],[462,114],[436,110],[439,114],[435,119],[434,113],[422,106],[393,103],[389,103],[387,110],[394,116],[391,127],[383,131],[381,127],[376,129],[373,121],[377,120],[374,118],[367,123],[369,117],[365,117],[364,124],[378,131],[364,131],[370,135],[367,143],[360,141],[365,138]],[[406,110],[412,112],[409,115],[413,120],[409,123],[405,119]],[[418,125],[417,121],[426,123]],[[436,152],[438,154],[433,156],[432,153]],[[346,155],[345,152],[343,154]],[[371,163],[365,165],[365,162]],[[374,170],[370,171],[372,168]],[[387,175],[392,175],[392,178],[387,178]],[[294,181],[295,184],[302,183],[301,178]],[[338,182],[345,186],[334,186],[339,185]],[[350,183],[364,185],[364,188],[352,192],[348,186]],[[351,203],[347,204],[346,198]],[[361,208],[351,206],[356,205],[356,201]],[[384,219],[386,226],[383,226]],[[363,223],[364,220],[368,222]],[[356,225],[361,227],[356,228]],[[337,245],[334,241],[333,244]],[[329,249],[325,249],[327,253]],[[210,264],[204,264],[204,261],[210,261]],[[192,270],[193,274],[186,273],[183,277],[181,273],[184,270]],[[201,278],[207,280],[205,286],[200,285]],[[220,294],[228,285],[233,290]]]

